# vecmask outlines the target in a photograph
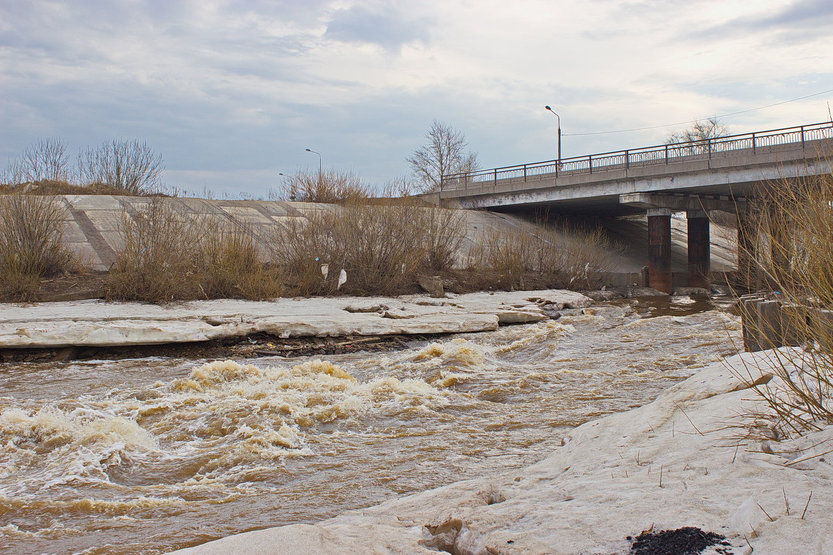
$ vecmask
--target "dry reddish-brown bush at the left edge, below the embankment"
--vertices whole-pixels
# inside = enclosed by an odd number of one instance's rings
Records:
[[[0,196],[0,298],[31,300],[40,280],[80,270],[62,245],[65,209],[44,196]]]

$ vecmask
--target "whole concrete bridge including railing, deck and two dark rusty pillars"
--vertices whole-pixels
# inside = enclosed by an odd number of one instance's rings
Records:
[[[833,122],[443,176],[445,206],[646,214],[651,287],[671,292],[671,213],[688,216],[689,285],[706,287],[709,211],[742,214],[761,184],[833,171]]]

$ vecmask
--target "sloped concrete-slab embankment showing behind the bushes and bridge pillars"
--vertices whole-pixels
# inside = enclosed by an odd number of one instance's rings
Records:
[[[141,196],[67,195],[57,196],[67,208],[64,240],[91,265],[93,270],[107,270],[122,248],[120,228],[124,218],[141,210],[152,198]],[[338,210],[338,206],[308,202],[282,201],[209,201],[192,198],[165,198],[177,211],[194,217],[207,217],[244,225],[258,238],[267,240],[271,231],[283,221],[303,218],[315,211]],[[487,211],[461,211],[465,221],[466,239],[461,247],[461,260],[466,259],[478,238],[491,230],[524,230],[535,234],[536,225],[521,216]],[[598,220],[612,242],[621,245],[621,253],[613,256],[616,271],[638,272],[647,264],[647,224],[644,220]],[[674,271],[685,271],[686,221],[672,219],[672,264]],[[712,270],[735,269],[734,239],[731,230],[712,231]],[[566,235],[561,234],[561,237]]]

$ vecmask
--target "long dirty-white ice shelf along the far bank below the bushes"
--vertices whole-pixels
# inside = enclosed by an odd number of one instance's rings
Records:
[[[406,295],[205,300],[167,306],[97,300],[0,304],[0,348],[182,343],[256,332],[280,337],[461,333],[546,320],[546,311],[582,308],[591,302],[579,293],[544,290],[471,293],[442,300]]]

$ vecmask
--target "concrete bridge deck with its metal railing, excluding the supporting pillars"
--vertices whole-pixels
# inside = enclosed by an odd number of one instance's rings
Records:
[[[440,198],[466,208],[549,206],[618,216],[619,196],[746,196],[761,181],[830,172],[833,123],[580,156],[448,176]]]

